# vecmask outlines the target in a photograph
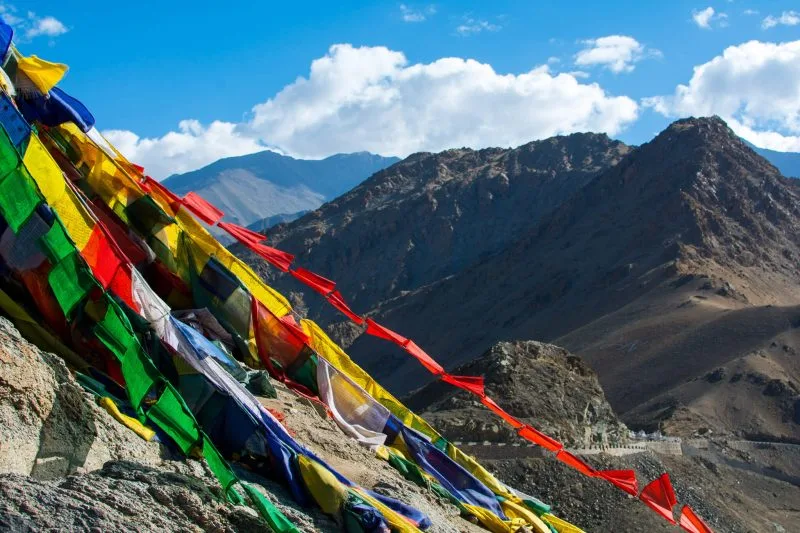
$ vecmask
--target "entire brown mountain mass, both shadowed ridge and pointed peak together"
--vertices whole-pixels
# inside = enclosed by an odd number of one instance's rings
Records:
[[[274,244],[448,368],[498,341],[552,342],[634,427],[798,440],[798,227],[800,184],[703,118],[636,149],[581,134],[418,154]],[[396,392],[430,379],[335,329]]]

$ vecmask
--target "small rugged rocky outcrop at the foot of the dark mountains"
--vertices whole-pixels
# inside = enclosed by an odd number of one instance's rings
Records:
[[[551,344],[501,342],[456,375],[484,376],[486,391],[510,414],[569,447],[618,446],[628,428],[606,402],[597,376],[580,357]],[[408,397],[412,409],[451,440],[521,442],[475,397],[432,383]]]

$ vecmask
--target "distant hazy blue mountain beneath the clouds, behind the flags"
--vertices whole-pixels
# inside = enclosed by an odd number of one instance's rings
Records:
[[[222,209],[226,220],[247,226],[274,215],[316,209],[396,161],[368,152],[306,160],[267,150],[220,159],[170,176],[164,185],[181,195],[195,191]]]

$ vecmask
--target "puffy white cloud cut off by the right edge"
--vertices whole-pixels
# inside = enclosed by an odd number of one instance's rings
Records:
[[[694,67],[687,85],[642,103],[669,117],[719,115],[757,146],[800,151],[800,41],[749,41]]]

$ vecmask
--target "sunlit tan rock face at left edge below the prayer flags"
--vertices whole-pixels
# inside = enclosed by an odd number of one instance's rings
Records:
[[[162,449],[100,408],[64,362],[27,342],[0,317],[0,472],[53,479],[112,459],[145,465]]]

